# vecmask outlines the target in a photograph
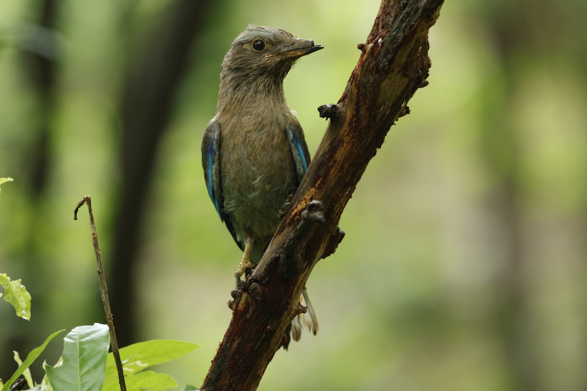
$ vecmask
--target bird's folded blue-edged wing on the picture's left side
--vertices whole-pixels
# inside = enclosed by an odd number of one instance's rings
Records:
[[[204,167],[204,179],[208,195],[220,220],[223,221],[232,235],[232,239],[237,243],[241,250],[244,246],[237,239],[237,233],[232,225],[230,215],[224,212],[224,196],[222,196],[222,184],[220,181],[220,124],[217,121],[210,121],[204,132],[202,141],[202,166]]]

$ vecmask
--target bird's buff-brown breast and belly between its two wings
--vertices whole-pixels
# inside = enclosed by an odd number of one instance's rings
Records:
[[[285,121],[241,115],[220,124],[225,212],[259,236],[275,232],[278,211],[297,185]]]

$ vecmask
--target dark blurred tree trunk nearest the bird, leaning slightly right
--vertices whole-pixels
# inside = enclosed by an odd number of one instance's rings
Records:
[[[122,182],[115,213],[108,278],[120,346],[137,341],[136,278],[139,239],[157,147],[169,123],[194,38],[203,28],[208,0],[172,2],[168,17],[136,43],[129,60],[120,113]]]

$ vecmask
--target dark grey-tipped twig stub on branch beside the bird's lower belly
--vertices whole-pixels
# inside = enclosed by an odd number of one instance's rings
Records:
[[[308,206],[302,212],[302,220],[295,227],[294,232],[289,235],[282,250],[280,262],[285,269],[286,276],[295,276],[295,274],[299,273],[302,268],[299,247],[303,239],[312,232],[316,224],[325,221],[322,202],[312,200],[308,203]]]

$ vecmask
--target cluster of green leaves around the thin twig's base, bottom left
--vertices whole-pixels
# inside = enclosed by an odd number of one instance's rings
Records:
[[[29,366],[45,349],[51,339],[63,330],[51,334],[43,345],[33,349],[24,362],[20,362],[18,353],[15,360],[19,367],[12,377],[2,386],[1,391],[9,387],[23,373],[29,386],[33,386]],[[107,325],[94,324],[74,328],[64,338],[63,355],[54,366],[44,365],[46,376],[40,385],[31,388],[35,391],[118,391],[120,386],[116,364],[112,353],[108,354],[110,334]],[[166,373],[146,370],[150,366],[179,358],[199,348],[200,345],[173,340],[154,340],[120,349],[123,362],[124,380],[128,391],[163,391],[177,387],[177,382]],[[2,385],[2,383],[0,383]],[[185,385],[183,391],[197,391],[194,386]]]

